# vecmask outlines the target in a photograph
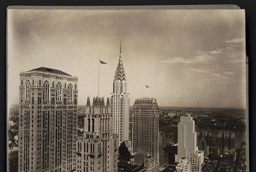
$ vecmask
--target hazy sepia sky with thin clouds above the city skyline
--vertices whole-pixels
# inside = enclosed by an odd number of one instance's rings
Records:
[[[98,95],[98,58],[111,96],[122,40],[130,105],[246,107],[244,31],[243,10],[8,10],[8,103],[20,71],[49,67],[77,76],[84,105]]]

